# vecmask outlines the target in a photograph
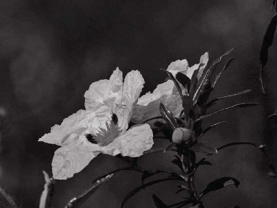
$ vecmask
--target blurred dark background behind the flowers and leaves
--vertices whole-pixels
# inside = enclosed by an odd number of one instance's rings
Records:
[[[265,69],[267,96],[258,83],[258,55],[267,24],[274,15],[271,0],[226,1],[0,1],[0,186],[23,207],[38,207],[42,170],[51,173],[57,146],[37,140],[55,123],[84,108],[89,85],[109,78],[119,67],[125,74],[139,69],[143,93],[163,82],[159,71],[177,59],[190,65],[208,51],[213,60],[235,47],[235,62],[217,85],[213,97],[253,89],[249,95],[220,101],[215,108],[255,101],[257,107],[231,110],[204,125],[228,121],[203,139],[220,146],[231,141],[267,144],[277,162],[277,126],[266,117],[276,102],[276,44]],[[221,66],[222,67],[222,66]],[[218,69],[219,70],[219,69]],[[157,146],[165,144],[157,140]],[[172,155],[142,157],[146,168],[175,168]],[[158,161],[158,162],[157,162]],[[237,177],[239,189],[227,187],[204,198],[206,207],[276,207],[277,180],[267,176],[260,151],[238,146],[211,158],[199,168],[197,188],[217,177]],[[53,207],[64,207],[89,187],[93,178],[123,166],[116,157],[100,155],[81,173],[55,187]],[[125,194],[140,184],[139,173],[123,172],[104,184],[83,207],[120,207]],[[156,193],[168,204],[181,200],[176,182],[141,191],[126,207],[154,207]]]

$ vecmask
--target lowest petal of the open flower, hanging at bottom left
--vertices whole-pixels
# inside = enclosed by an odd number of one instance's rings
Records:
[[[83,148],[75,144],[58,148],[52,161],[53,177],[58,180],[72,177],[82,171],[99,153],[97,148],[93,151],[91,148]]]

